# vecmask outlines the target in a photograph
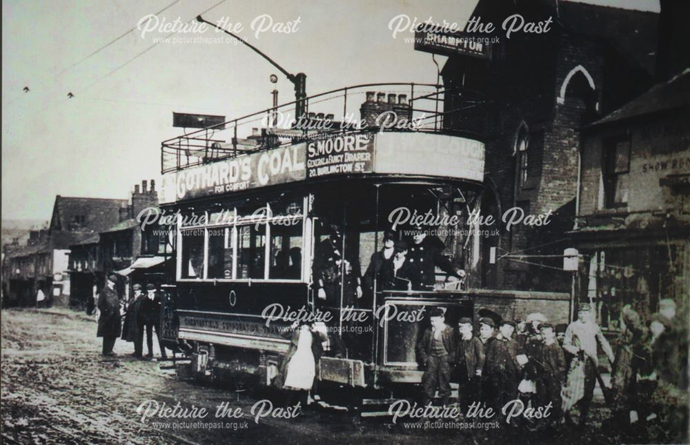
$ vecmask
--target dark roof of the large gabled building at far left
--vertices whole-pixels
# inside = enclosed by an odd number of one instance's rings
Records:
[[[50,230],[99,233],[119,221],[127,199],[55,197]],[[79,217],[83,217],[81,223]]]

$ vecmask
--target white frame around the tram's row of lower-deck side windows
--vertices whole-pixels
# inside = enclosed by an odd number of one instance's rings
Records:
[[[311,275],[308,273],[309,270],[311,270],[311,267],[306,267],[306,264],[310,264],[311,266],[311,252],[308,250],[311,248],[311,244],[308,242],[309,236],[311,235],[311,227],[312,224],[308,224],[308,221],[310,220],[309,218],[309,209],[308,205],[311,202],[311,199],[309,198],[310,195],[302,195],[302,212],[299,215],[277,215],[273,216],[273,214],[270,212],[270,203],[268,199],[266,199],[266,203],[264,206],[261,208],[266,208],[266,212],[263,215],[253,215],[252,213],[248,213],[246,215],[241,215],[241,212],[237,210],[237,207],[233,207],[233,217],[230,219],[230,222],[223,221],[220,223],[209,223],[209,212],[206,211],[204,212],[204,221],[206,221],[206,224],[196,224],[196,225],[190,225],[190,226],[182,226],[182,215],[178,215],[177,217],[177,224],[176,224],[176,234],[177,234],[177,268],[175,271],[175,279],[176,281],[179,282],[186,282],[186,283],[214,283],[214,282],[219,282],[219,283],[285,283],[285,284],[308,284],[311,280]],[[299,197],[297,197],[299,199]],[[269,216],[270,215],[270,216]],[[302,264],[300,266],[301,269],[301,277],[299,279],[285,279],[285,278],[270,278],[269,274],[269,268],[270,268],[270,226],[271,222],[273,221],[285,221],[286,219],[299,219],[299,221],[302,222]],[[266,237],[266,242],[264,243],[264,274],[263,278],[238,278],[238,270],[237,270],[237,244],[238,244],[238,237],[239,237],[239,228],[242,226],[250,226],[250,225],[255,225],[255,224],[263,224],[265,226],[265,233],[264,236]],[[232,255],[232,261],[233,261],[233,270],[232,270],[232,278],[209,278],[208,277],[208,255],[209,255],[209,250],[208,250],[208,230],[209,229],[220,229],[224,228],[226,229],[226,235],[225,235],[225,242],[227,243],[228,239],[230,241],[230,248],[233,250],[233,255]],[[190,229],[203,229],[204,230],[204,271],[203,275],[201,277],[194,277],[194,278],[182,278],[181,277],[181,272],[182,272],[182,236],[181,233],[184,232],[184,230],[190,230]],[[225,244],[227,246],[227,244]],[[227,247],[226,247],[227,248]]]

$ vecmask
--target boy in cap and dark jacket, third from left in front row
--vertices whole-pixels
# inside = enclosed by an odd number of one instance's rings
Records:
[[[513,339],[515,322],[500,322],[500,333],[486,347],[484,372],[495,390],[493,408],[499,412],[511,400],[517,398],[520,366],[517,364],[517,343]]]

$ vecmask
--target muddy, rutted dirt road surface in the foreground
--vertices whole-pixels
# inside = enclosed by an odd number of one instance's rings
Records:
[[[422,420],[393,424],[390,417],[362,419],[323,408],[300,411],[296,418],[255,422],[253,406],[272,394],[239,384],[181,382],[171,362],[137,360],[130,356],[132,344],[120,340],[115,346],[118,357],[102,357],[92,317],[58,308],[3,310],[1,315],[3,443],[495,443],[499,437],[502,443],[512,442],[506,441],[506,433],[438,428]],[[273,399],[277,406],[277,397]],[[162,411],[178,402],[179,411],[206,408],[208,414],[201,419],[141,418],[146,406]],[[242,417],[216,417],[220,404],[231,411],[240,408]],[[565,431],[558,436],[562,443],[578,442]],[[541,439],[518,436],[515,442]]]

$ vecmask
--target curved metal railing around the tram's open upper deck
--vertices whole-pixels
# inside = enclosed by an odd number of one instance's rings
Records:
[[[340,132],[419,131],[481,137],[484,99],[431,83],[364,83],[266,108],[161,143],[161,172],[299,144]]]

